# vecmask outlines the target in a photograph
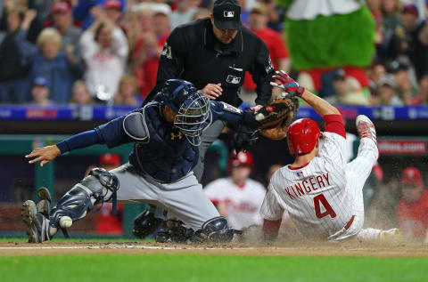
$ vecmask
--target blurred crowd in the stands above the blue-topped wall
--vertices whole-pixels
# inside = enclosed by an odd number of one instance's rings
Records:
[[[0,103],[137,106],[156,81],[171,29],[210,15],[214,0],[4,0],[0,3]],[[298,73],[286,47],[285,10],[241,0],[243,24],[268,45],[276,69]],[[325,91],[334,104],[428,103],[424,0],[367,0],[375,55],[365,94],[342,68]],[[338,38],[340,40],[340,38]],[[304,84],[304,82],[302,82]],[[253,101],[246,76],[242,98]]]

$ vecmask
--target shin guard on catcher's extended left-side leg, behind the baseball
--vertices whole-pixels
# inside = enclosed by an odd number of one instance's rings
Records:
[[[119,179],[103,168],[95,168],[89,176],[68,191],[50,214],[50,225],[53,228],[65,230],[72,222],[85,217],[94,205],[109,201],[113,198],[113,212],[116,208],[116,191],[119,189]],[[107,194],[111,191],[111,196]],[[67,232],[64,232],[68,237]]]

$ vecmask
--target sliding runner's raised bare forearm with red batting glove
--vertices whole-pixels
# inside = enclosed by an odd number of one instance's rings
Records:
[[[284,70],[276,71],[276,75],[273,76],[273,78],[276,79],[276,82],[270,83],[271,85],[284,89],[284,91],[291,96],[303,99],[310,107],[315,109],[317,114],[321,117],[341,114],[339,110],[333,107],[328,101],[310,93],[304,87],[300,86],[292,77],[289,77]]]

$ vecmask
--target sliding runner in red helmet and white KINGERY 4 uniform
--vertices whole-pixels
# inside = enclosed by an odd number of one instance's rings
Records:
[[[372,121],[358,116],[360,138],[358,156],[345,161],[345,127],[339,110],[309,93],[283,71],[276,72],[276,83],[289,96],[300,97],[325,121],[321,133],[309,118],[296,120],[287,130],[291,165],[274,173],[260,209],[265,219],[265,238],[276,238],[284,210],[288,211],[303,238],[342,240],[385,238],[399,230],[363,230],[363,186],[379,157],[376,132]]]

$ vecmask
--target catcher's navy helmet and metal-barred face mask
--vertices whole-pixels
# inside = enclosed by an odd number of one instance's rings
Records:
[[[194,146],[201,144],[200,136],[212,120],[209,99],[197,93],[193,84],[181,79],[169,79],[161,95],[162,103],[176,114],[174,125]]]

